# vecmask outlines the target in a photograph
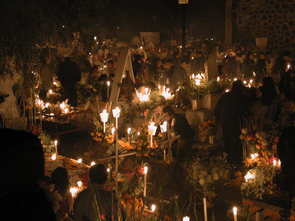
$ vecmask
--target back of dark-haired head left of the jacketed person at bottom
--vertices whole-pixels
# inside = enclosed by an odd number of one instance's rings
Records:
[[[51,174],[51,182],[55,189],[65,190],[69,187],[69,174],[63,167],[56,168]]]

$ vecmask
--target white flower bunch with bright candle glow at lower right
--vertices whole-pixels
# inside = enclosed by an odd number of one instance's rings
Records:
[[[262,199],[263,194],[272,193],[273,173],[271,164],[250,169],[244,178],[241,186],[241,193],[244,198],[250,200]]]

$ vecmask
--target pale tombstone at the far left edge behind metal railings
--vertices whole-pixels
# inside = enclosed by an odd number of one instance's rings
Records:
[[[22,129],[23,119],[19,116],[12,82],[8,78],[0,80],[0,117],[6,128]],[[26,121],[24,121],[26,122]]]

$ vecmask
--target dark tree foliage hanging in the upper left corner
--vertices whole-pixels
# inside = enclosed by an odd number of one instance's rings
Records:
[[[47,47],[71,47],[73,33],[90,47],[90,24],[101,21],[107,4],[108,0],[1,1],[0,77],[37,71]]]

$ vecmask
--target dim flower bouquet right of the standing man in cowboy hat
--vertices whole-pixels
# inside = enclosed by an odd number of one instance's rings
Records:
[[[84,102],[85,100],[89,99],[91,95],[98,95],[102,86],[103,85],[98,81],[94,81],[93,83],[89,84],[87,82],[87,78],[82,78],[77,84],[78,99]]]

